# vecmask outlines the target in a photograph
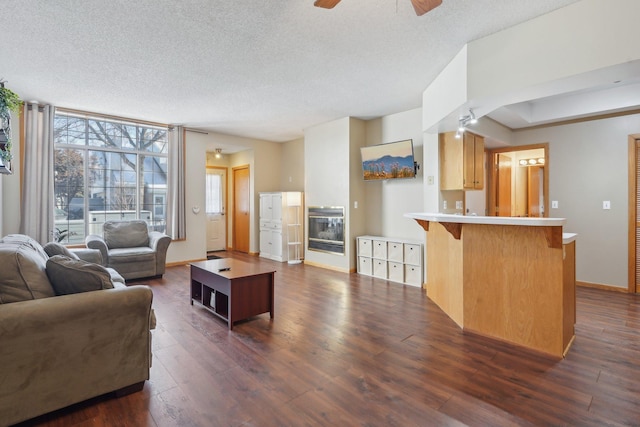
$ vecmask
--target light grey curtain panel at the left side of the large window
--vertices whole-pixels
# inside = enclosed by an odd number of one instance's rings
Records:
[[[51,105],[25,103],[20,233],[41,244],[54,237],[53,115]]]

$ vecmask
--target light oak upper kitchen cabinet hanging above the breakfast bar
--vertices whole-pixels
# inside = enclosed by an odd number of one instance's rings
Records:
[[[440,189],[481,190],[484,187],[484,137],[464,132],[440,134]]]

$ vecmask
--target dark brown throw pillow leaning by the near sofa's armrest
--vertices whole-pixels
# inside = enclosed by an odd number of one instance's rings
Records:
[[[47,276],[57,295],[113,288],[111,275],[106,268],[64,255],[49,258]]]

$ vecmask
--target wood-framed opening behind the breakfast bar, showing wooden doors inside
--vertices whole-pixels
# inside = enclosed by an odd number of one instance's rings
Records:
[[[548,217],[548,144],[488,152],[490,216]]]

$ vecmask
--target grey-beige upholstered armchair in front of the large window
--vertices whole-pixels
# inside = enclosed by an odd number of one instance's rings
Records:
[[[107,221],[103,235],[91,234],[85,243],[98,249],[103,264],[115,269],[126,280],[141,277],[162,277],[171,237],[149,231],[143,220]]]

